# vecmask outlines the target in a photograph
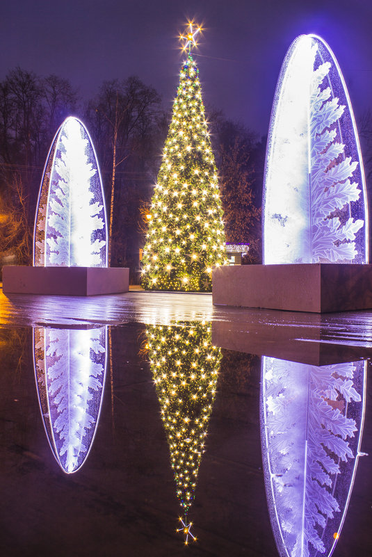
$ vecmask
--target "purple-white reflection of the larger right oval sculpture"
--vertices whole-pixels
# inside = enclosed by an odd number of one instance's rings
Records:
[[[280,557],[332,554],[360,455],[365,378],[363,361],[262,359],[262,460]]]

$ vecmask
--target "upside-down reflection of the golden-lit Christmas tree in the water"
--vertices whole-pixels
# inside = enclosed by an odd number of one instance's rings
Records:
[[[185,515],[180,529],[187,543],[188,535],[193,537],[187,513],[194,498],[216,393],[220,350],[211,345],[211,327],[205,323],[149,326],[147,349],[170,446],[177,497]]]

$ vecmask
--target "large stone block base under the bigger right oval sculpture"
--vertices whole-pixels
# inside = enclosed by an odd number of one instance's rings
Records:
[[[213,304],[343,312],[372,308],[372,265],[242,265],[213,269]]]

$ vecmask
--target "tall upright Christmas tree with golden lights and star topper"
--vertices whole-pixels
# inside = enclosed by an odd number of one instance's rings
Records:
[[[211,291],[212,267],[227,264],[217,169],[190,54],[198,31],[190,24],[184,38],[188,58],[147,216],[142,284],[150,290]]]

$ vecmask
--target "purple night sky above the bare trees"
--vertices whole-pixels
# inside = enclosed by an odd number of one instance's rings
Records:
[[[105,79],[136,74],[170,108],[188,18],[204,27],[195,51],[204,102],[259,134],[284,55],[302,33],[334,51],[356,117],[372,108],[371,0],[2,0],[0,79],[17,65],[54,73],[84,100]]]

